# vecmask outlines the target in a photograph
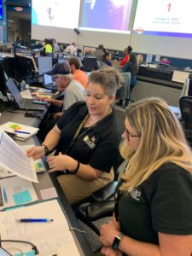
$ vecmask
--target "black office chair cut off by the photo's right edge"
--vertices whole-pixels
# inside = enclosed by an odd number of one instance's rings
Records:
[[[189,144],[192,144],[192,96],[182,96],[179,99],[183,129]]]

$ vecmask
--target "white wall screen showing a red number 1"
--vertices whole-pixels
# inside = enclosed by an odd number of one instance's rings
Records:
[[[133,32],[192,38],[191,8],[189,0],[138,0]]]

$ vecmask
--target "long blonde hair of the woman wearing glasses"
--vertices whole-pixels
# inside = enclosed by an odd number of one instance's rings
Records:
[[[147,98],[133,103],[126,109],[126,119],[141,141],[136,152],[126,142],[121,145],[121,154],[129,163],[120,189],[130,192],[166,162],[191,172],[191,150],[182,126],[164,100]]]

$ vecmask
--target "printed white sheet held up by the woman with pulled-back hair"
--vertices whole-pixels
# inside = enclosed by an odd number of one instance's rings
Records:
[[[20,146],[3,131],[0,131],[0,166],[19,177],[38,183],[32,157],[27,157]]]

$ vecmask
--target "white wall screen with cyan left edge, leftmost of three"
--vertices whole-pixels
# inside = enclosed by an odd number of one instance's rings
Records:
[[[73,29],[79,26],[79,9],[80,0],[32,0],[32,25]]]

